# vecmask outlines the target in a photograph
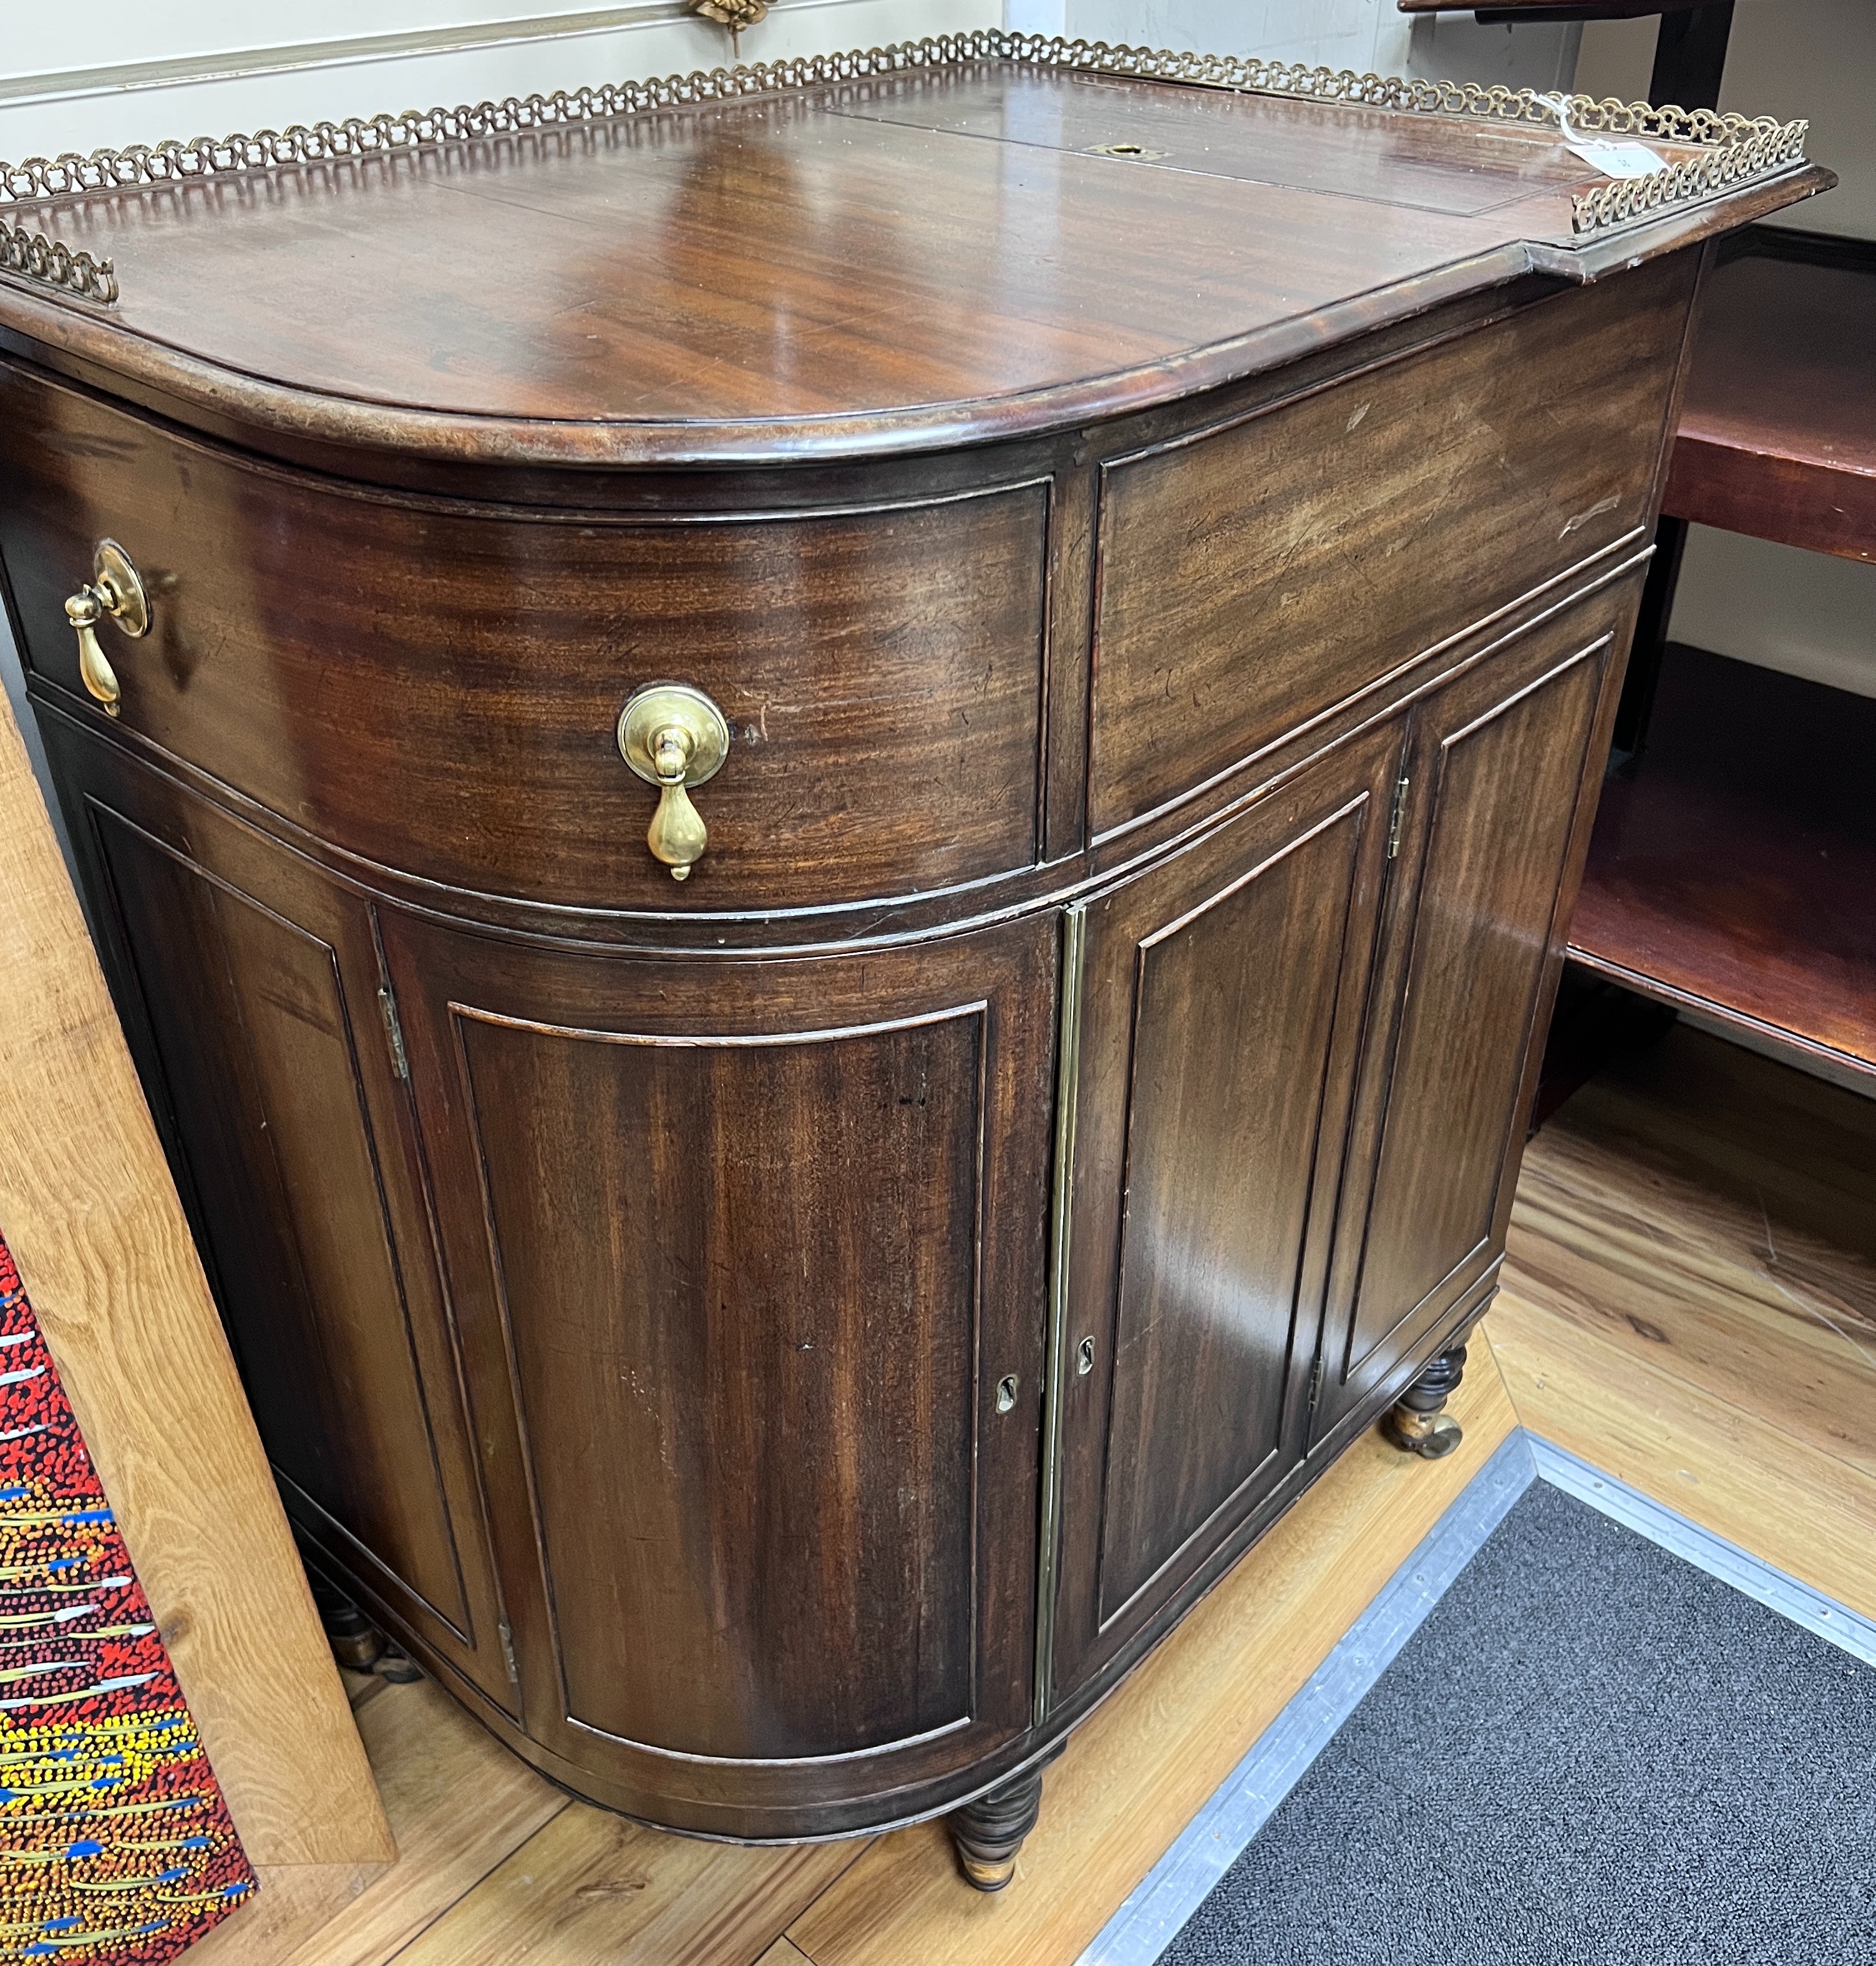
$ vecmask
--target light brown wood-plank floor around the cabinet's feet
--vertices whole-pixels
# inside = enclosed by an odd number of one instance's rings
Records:
[[[637,1828],[431,1683],[358,1679],[397,1864],[193,1958],[1072,1966],[1518,1423],[1876,1616],[1876,1103],[1673,1030],[1532,1142],[1485,1331],[1461,1451],[1343,1455],[1074,1734],[1001,1897],[938,1824],[796,1850]]]

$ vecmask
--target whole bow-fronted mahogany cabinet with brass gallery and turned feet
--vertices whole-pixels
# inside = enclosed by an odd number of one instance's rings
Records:
[[[557,1781],[995,1887],[1451,1443],[1701,261],[1831,181],[1567,110],[1660,171],[1003,33],[0,167],[8,615],[287,1510]]]

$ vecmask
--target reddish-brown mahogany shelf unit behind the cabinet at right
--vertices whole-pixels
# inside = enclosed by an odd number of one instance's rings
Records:
[[[1689,521],[1876,560],[1872,346],[1876,246],[1711,277],[1569,955],[1876,1091],[1876,700],[1662,639]]]

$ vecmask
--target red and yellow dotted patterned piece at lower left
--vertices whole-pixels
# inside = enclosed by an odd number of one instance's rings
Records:
[[[173,1960],[256,1889],[0,1243],[0,1960]]]

